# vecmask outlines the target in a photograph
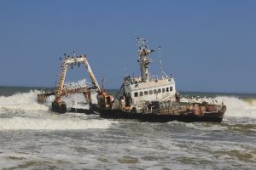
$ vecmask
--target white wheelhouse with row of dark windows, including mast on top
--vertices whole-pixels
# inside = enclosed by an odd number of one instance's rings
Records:
[[[172,75],[167,76],[162,72],[161,77],[151,76],[148,67],[152,59],[148,57],[154,50],[145,44],[146,40],[137,37],[138,55],[141,77],[124,77],[123,96],[115,102],[114,107],[121,109],[132,109],[139,107],[146,101],[176,101],[178,99],[175,81]]]

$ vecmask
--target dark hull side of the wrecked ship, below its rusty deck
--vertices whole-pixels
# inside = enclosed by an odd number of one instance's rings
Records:
[[[204,115],[195,115],[192,111],[173,115],[131,113],[121,110],[100,108],[93,108],[92,110],[98,112],[102,118],[108,119],[137,119],[141,122],[222,122],[226,108],[224,106],[221,111],[206,112]]]

